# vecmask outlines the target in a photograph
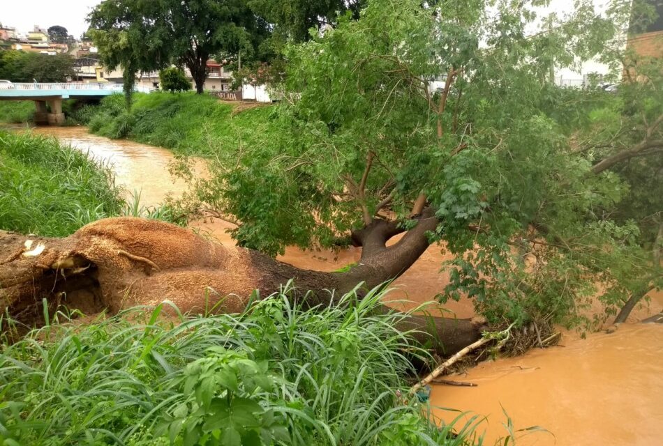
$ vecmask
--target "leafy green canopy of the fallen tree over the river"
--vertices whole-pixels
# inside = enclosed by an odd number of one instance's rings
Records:
[[[569,321],[599,289],[614,314],[661,282],[662,195],[646,192],[660,187],[660,61],[616,94],[549,72],[597,57],[617,78],[627,3],[540,17],[537,2],[371,0],[288,47],[271,128],[221,148],[200,197],[262,252],[362,245],[355,270],[381,257],[373,273],[399,274],[440,241],[456,255],[440,298],[468,293],[491,318]]]

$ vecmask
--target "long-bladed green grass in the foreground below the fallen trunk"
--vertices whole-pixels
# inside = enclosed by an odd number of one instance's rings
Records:
[[[288,289],[242,314],[167,304],[33,330],[0,353],[4,445],[478,445],[476,418],[436,426],[405,401],[424,356],[375,309],[293,306]],[[161,317],[161,312],[170,315]],[[172,316],[178,314],[179,316]],[[7,321],[3,328],[8,328]],[[459,416],[458,420],[461,419]],[[459,432],[454,433],[454,429]]]

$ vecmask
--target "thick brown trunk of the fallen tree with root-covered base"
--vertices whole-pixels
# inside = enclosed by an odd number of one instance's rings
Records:
[[[374,222],[355,234],[366,244],[365,252],[355,268],[343,273],[295,268],[156,220],[99,220],[67,238],[0,232],[0,306],[29,323],[41,317],[42,298],[52,307],[64,304],[84,312],[117,312],[163,300],[171,300],[182,312],[202,312],[215,305],[217,312],[241,312],[253,290],[265,298],[290,279],[296,287],[293,299],[310,306],[329,305],[359,282],[373,288],[409,268],[428,246],[425,233],[435,228],[434,220],[422,217],[390,247],[385,246],[389,234],[400,230],[388,222]],[[465,319],[412,316],[400,329],[417,330],[413,338],[447,355],[479,339],[482,327]]]

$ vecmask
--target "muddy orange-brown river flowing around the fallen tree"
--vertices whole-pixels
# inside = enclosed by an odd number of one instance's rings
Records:
[[[97,137],[80,127],[33,132],[50,134],[112,164],[116,182],[128,191],[140,190],[144,206],[156,205],[167,193],[186,190],[186,183],[170,176],[173,156],[163,148]],[[207,220],[191,226],[222,243],[233,243],[225,233],[232,227],[227,222]],[[352,248],[341,252],[289,248],[280,259],[301,268],[331,271],[357,261],[359,255],[359,249]],[[399,302],[392,305],[412,308],[431,300],[448,279],[440,272],[445,258],[440,247],[430,247],[394,283],[390,300]],[[433,412],[447,421],[458,413],[445,407],[485,416],[480,430],[486,430],[486,445],[507,435],[502,408],[515,429],[538,425],[550,431],[519,438],[517,445],[663,445],[663,325],[636,323],[662,308],[663,293],[655,293],[650,308],[634,311],[629,323],[616,332],[589,334],[587,339],[566,332],[560,346],[479,364],[450,378],[477,387],[433,387]],[[452,302],[444,311],[447,316],[473,316],[468,300]]]

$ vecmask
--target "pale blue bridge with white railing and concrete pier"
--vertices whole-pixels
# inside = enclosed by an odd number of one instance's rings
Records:
[[[135,87],[135,91],[149,93],[149,89],[144,87]],[[103,98],[113,93],[122,93],[122,84],[85,84],[83,82],[0,84],[0,100],[33,100],[35,102],[34,122],[36,124],[63,124],[62,100],[64,99]],[[50,111],[46,108],[47,103]]]

